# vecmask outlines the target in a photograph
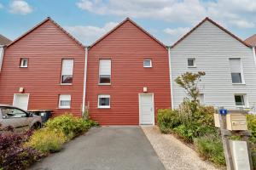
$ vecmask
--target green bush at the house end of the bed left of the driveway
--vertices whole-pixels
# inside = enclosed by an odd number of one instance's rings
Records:
[[[45,127],[52,130],[61,130],[68,139],[73,139],[81,133],[86,132],[96,122],[85,121],[83,118],[75,117],[71,114],[56,116],[45,123]]]

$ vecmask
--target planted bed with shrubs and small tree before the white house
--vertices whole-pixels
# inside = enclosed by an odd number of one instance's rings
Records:
[[[158,126],[161,133],[172,133],[193,148],[199,155],[217,165],[225,165],[224,149],[218,128],[214,126],[214,108],[201,105],[197,96],[197,83],[204,76],[203,72],[185,73],[177,77],[176,82],[183,87],[188,98],[183,100],[176,110],[158,111]],[[247,126],[252,131],[250,147],[252,150],[253,167],[256,167],[256,116],[247,115]],[[232,136],[232,139],[239,137]]]

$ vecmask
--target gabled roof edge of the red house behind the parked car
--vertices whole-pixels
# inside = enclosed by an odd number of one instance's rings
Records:
[[[67,34],[68,37],[72,38],[73,41],[77,42],[81,47],[84,48],[84,45],[79,42],[76,38],[74,38],[71,34],[69,34],[66,30],[64,30],[64,28],[62,28],[60,25],[58,25],[54,20],[52,20],[50,17],[47,17],[46,19],[44,19],[42,22],[38,23],[38,25],[32,27],[32,29],[30,29],[29,31],[26,31],[25,34],[21,35],[20,37],[18,37],[17,39],[15,39],[15,41],[9,43],[9,46],[11,46],[12,44],[14,44],[15,42],[20,41],[20,39],[22,39],[23,37],[26,37],[26,35],[28,35],[29,33],[31,33],[32,31],[34,31],[35,29],[37,29],[39,26],[44,25],[44,23],[46,23],[47,21],[52,22],[55,26],[59,27],[61,29],[61,31],[63,31],[65,34]]]

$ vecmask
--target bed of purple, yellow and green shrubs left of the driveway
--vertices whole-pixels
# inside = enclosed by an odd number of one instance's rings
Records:
[[[94,126],[97,123],[88,118],[65,114],[50,119],[35,131],[15,133],[13,127],[5,127],[6,133],[0,134],[0,170],[26,169]]]

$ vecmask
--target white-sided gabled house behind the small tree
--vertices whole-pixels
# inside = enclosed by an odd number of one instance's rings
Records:
[[[206,72],[199,84],[199,98],[204,105],[227,109],[256,106],[253,49],[214,21],[201,21],[169,49],[172,108],[177,108],[186,97],[174,81],[186,71]]]

